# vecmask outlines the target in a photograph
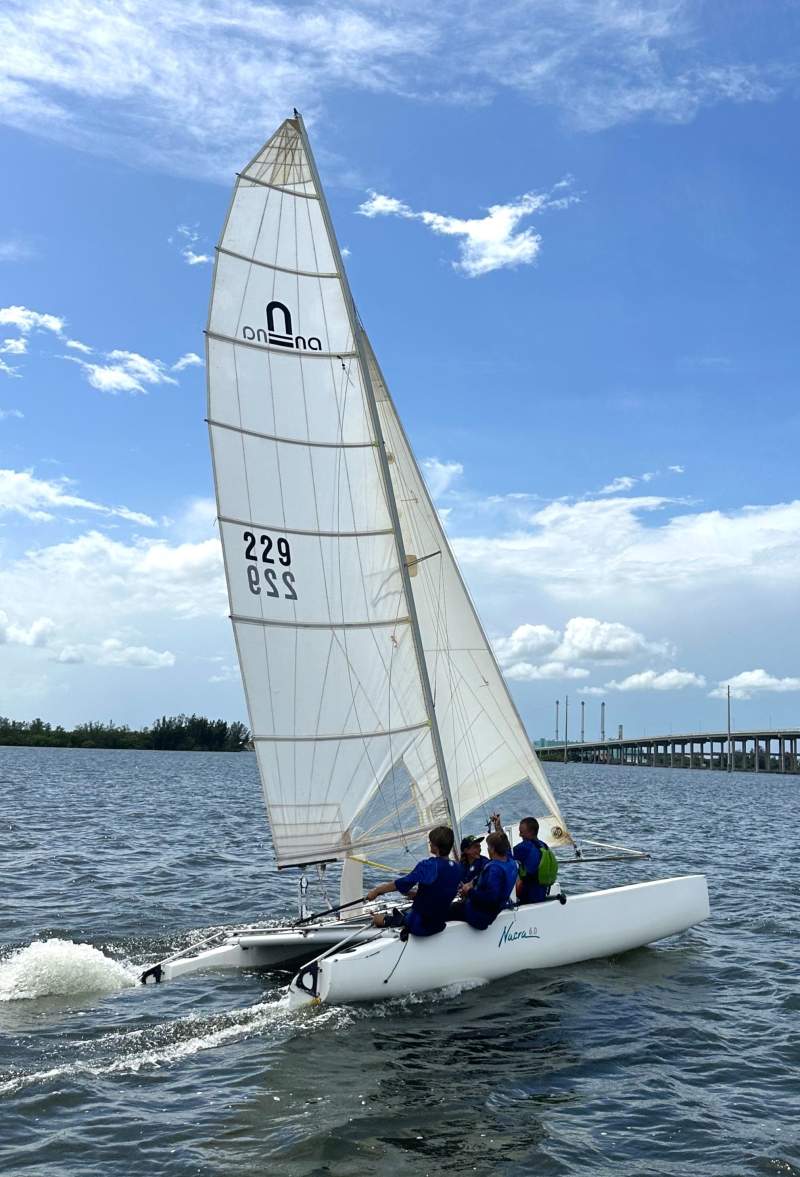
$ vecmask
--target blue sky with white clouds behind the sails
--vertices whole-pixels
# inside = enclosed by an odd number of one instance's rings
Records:
[[[202,328],[296,106],[534,738],[800,726],[796,0],[6,0],[0,714],[245,718]],[[564,701],[562,711],[564,716]],[[562,733],[562,726],[561,726]]]

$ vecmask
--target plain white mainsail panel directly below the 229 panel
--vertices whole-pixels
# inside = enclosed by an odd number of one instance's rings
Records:
[[[234,626],[254,736],[344,745],[426,723],[408,624]]]

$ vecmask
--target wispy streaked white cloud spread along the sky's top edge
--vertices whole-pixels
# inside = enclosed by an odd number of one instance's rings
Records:
[[[512,91],[586,129],[685,122],[708,104],[767,101],[794,77],[782,45],[772,68],[726,60],[733,21],[722,35],[687,0],[6,0],[2,117],[193,174],[252,153],[254,111],[313,113],[342,89],[428,104]]]

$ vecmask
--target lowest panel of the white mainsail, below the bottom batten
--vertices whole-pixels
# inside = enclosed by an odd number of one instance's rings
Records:
[[[406,782],[392,771],[414,739],[406,733],[341,744],[256,740],[279,865],[334,858],[353,845],[402,844],[407,837],[416,845],[420,814],[414,805],[396,804],[395,790],[405,799]],[[368,826],[360,823],[367,805]]]

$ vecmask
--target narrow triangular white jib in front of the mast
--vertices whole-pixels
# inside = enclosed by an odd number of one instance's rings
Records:
[[[551,844],[571,842],[461,579],[375,354],[367,347],[456,820],[475,809],[488,813],[502,792],[529,780],[553,819],[546,827]],[[416,779],[435,773],[432,762],[412,763],[406,757],[406,765]]]

